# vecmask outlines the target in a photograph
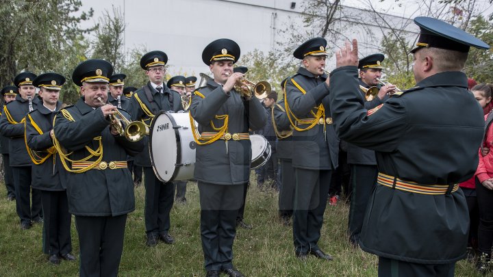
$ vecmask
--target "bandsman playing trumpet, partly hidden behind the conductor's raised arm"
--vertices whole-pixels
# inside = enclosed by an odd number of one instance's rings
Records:
[[[388,99],[387,94],[392,91],[392,88],[395,88],[393,85],[382,87],[379,83],[383,59],[385,59],[385,56],[377,53],[364,57],[358,62],[359,85],[364,89],[370,89],[371,87],[378,89],[373,89],[378,91],[378,94],[366,98],[368,100],[364,103],[366,109],[373,109],[385,102]],[[366,96],[364,89],[359,90],[363,97]],[[363,225],[364,212],[377,181],[377,159],[375,151],[361,148],[354,144],[348,144],[347,158],[347,162],[351,166],[352,187],[348,233],[349,241],[353,243],[353,246],[357,246]]]

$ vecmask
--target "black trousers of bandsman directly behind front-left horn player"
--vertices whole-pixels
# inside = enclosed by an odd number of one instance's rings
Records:
[[[66,191],[41,191],[43,207],[43,253],[62,255],[72,252],[71,219]]]

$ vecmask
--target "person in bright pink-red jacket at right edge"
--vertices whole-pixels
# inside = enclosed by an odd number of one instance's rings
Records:
[[[476,92],[475,96],[479,91],[491,100],[493,85],[479,84],[472,88],[472,92]],[[480,272],[488,271],[493,246],[493,153],[490,153],[493,144],[492,122],[493,112],[490,112],[485,115],[485,136],[481,149],[479,149],[479,165],[476,172],[476,194],[479,207],[478,250],[481,253],[477,269]]]

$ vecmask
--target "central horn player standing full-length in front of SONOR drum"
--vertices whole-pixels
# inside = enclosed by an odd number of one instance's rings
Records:
[[[190,116],[197,142],[194,178],[199,185],[201,239],[207,277],[241,274],[233,267],[233,240],[236,215],[244,184],[249,181],[251,142],[249,129],[257,130],[266,121],[265,110],[257,99],[242,96],[233,85],[243,77],[233,73],[240,47],[229,39],[214,40],[202,52],[213,79],[192,95]],[[193,125],[192,125],[193,126]]]

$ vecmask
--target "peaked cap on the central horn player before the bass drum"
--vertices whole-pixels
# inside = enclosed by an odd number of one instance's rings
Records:
[[[209,66],[216,61],[231,61],[234,63],[240,59],[240,46],[229,38],[214,40],[204,48],[202,61]]]

